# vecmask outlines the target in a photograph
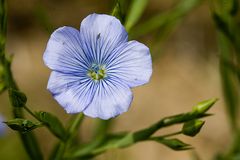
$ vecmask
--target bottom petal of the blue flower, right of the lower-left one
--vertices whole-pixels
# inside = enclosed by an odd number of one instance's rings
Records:
[[[99,81],[94,98],[83,113],[93,118],[109,119],[126,112],[132,99],[130,88],[118,79]]]

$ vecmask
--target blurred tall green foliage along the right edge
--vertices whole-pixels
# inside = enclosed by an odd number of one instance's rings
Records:
[[[222,88],[232,128],[237,127],[237,113],[240,99],[240,30],[235,17],[238,2],[235,0],[214,1],[213,19],[218,29],[218,46],[220,53],[220,73]]]

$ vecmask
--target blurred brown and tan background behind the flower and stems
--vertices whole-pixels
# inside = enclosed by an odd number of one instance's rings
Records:
[[[167,11],[176,2],[149,0],[139,23],[155,13]],[[110,0],[8,1],[6,50],[14,55],[13,74],[21,90],[26,93],[28,106],[32,110],[54,113],[63,122],[69,119],[70,115],[46,90],[50,70],[44,65],[42,56],[50,32],[64,25],[79,28],[80,22],[88,14],[110,14],[113,4]],[[176,152],[154,142],[143,142],[130,148],[111,150],[97,159],[192,160],[195,154],[203,160],[211,159],[216,153],[227,149],[231,135],[221,91],[216,29],[208,2],[189,12],[164,41],[154,40],[153,35],[155,33],[137,39],[151,48],[154,59],[151,81],[133,89],[134,100],[129,112],[114,119],[111,130],[135,131],[165,116],[189,111],[199,101],[217,97],[219,101],[210,111],[214,116],[207,118],[196,137],[180,136],[192,144],[194,150]],[[0,96],[0,113],[5,119],[11,119],[7,93]],[[94,123],[93,119],[85,119],[79,133],[83,140],[90,138]],[[156,134],[176,131],[179,127],[164,129]],[[47,156],[57,139],[45,128],[35,132]],[[0,138],[0,157],[2,160],[27,159],[17,133],[10,129]]]

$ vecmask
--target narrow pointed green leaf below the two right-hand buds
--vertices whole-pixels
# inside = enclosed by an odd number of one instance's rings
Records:
[[[164,144],[165,146],[167,146],[175,151],[192,149],[191,145],[186,144],[176,138],[165,139],[162,137],[153,137],[153,138],[151,138],[151,140],[156,141],[161,144]]]

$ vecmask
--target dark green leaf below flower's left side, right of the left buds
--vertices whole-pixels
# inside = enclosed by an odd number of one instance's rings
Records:
[[[48,112],[36,112],[35,115],[38,117],[39,121],[44,123],[48,127],[48,129],[58,138],[61,140],[65,140],[66,138],[66,130],[63,127],[60,120],[48,113]]]

